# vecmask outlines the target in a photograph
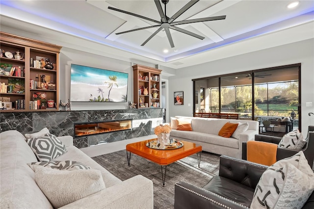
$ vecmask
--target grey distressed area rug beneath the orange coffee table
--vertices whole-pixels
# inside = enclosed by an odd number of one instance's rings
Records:
[[[126,150],[92,158],[122,181],[139,174],[152,180],[154,184],[154,209],[174,208],[174,185],[176,183],[186,181],[202,187],[219,172],[219,155],[202,152],[200,168],[196,154],[168,165],[165,186],[163,187],[160,165],[131,154],[129,167]]]

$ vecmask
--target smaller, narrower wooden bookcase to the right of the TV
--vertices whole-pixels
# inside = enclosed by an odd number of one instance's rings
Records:
[[[134,65],[134,103],[137,108],[160,107],[161,70],[143,65]]]

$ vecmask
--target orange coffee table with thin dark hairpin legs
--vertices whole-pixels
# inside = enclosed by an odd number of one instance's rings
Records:
[[[130,166],[130,161],[131,161],[131,153],[138,155],[140,157],[144,157],[146,159],[149,159],[157,163],[158,165],[161,166],[161,176],[162,176],[163,186],[165,185],[167,165],[196,153],[198,166],[200,167],[202,146],[196,145],[192,142],[181,141],[181,140],[180,142],[183,142],[183,147],[178,148],[178,149],[156,150],[156,149],[152,149],[146,146],[148,142],[154,141],[154,140],[157,140],[157,139],[156,138],[149,139],[149,140],[135,142],[135,143],[131,143],[127,145],[126,151],[127,151],[127,158],[128,158],[129,166]],[[179,140],[176,140],[176,141],[179,141]],[[163,172],[163,169],[164,169],[164,172]]]

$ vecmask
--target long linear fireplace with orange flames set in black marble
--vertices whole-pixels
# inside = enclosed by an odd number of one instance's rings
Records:
[[[118,121],[100,121],[74,123],[74,137],[109,133],[115,131],[126,131],[132,129],[132,119]]]

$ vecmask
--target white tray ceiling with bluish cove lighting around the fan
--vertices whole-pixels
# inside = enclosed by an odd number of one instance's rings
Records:
[[[170,0],[171,17],[189,0]],[[173,65],[191,55],[311,23],[314,1],[300,0],[288,9],[291,0],[200,0],[177,20],[226,15],[225,20],[185,24],[178,27],[204,36],[204,40],[170,29],[175,47],[171,48],[165,31],[159,32],[145,46],[141,44],[157,28],[116,35],[117,32],[156,25],[128,14],[108,9],[119,8],[160,21],[154,0],[1,0],[1,17],[31,23],[65,34],[91,40],[119,50]],[[164,9],[164,5],[162,8]],[[2,19],[2,18],[1,18]],[[10,26],[10,21],[1,20]],[[31,29],[23,28],[23,30]],[[164,52],[168,50],[168,52]]]

